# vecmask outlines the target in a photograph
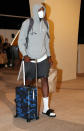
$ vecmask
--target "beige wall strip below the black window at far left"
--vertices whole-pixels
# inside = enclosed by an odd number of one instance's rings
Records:
[[[11,34],[16,34],[17,32],[18,30],[0,29],[0,35],[3,36],[3,39],[8,38],[9,43],[13,40]]]

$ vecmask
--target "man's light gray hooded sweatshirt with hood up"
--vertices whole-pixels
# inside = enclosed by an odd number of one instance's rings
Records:
[[[45,12],[46,10],[43,5],[35,5],[33,8],[34,24],[28,34],[28,48],[25,48],[25,43],[29,27],[29,19],[23,22],[18,39],[18,46],[22,55],[28,55],[32,59],[39,59],[45,54],[50,56],[49,37],[47,35],[49,29],[46,27],[43,20],[40,21],[38,16],[38,9],[41,7],[44,8]]]

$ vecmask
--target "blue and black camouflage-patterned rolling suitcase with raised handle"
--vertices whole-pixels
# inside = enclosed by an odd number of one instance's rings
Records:
[[[25,86],[25,68],[24,60],[21,63],[23,68],[24,86],[16,87],[16,115],[30,122],[33,119],[39,119],[38,115],[38,90],[37,90],[37,63],[36,63],[36,87]],[[20,72],[19,72],[20,73]]]

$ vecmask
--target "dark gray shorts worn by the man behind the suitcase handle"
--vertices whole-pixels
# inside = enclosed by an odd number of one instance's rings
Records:
[[[37,77],[47,78],[49,75],[50,64],[48,59],[37,63]],[[25,62],[25,80],[33,80],[36,78],[36,63]]]

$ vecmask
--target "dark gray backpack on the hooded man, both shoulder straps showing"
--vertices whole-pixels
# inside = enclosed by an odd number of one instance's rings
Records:
[[[31,29],[32,29],[32,27],[33,27],[33,24],[34,24],[33,18],[30,18],[29,20],[30,20],[30,22],[29,22],[29,28],[28,28],[28,31],[27,31],[26,44],[25,44],[26,49],[27,49],[27,47],[28,47],[28,40],[29,40],[29,39],[28,39],[28,34],[29,34],[29,32],[31,31]],[[48,29],[49,27],[48,27],[47,21],[46,21],[45,19],[43,19],[43,21],[44,21],[44,23],[45,23],[45,25],[46,25],[46,27],[47,27],[47,29]],[[47,36],[48,36],[48,38],[50,38],[48,32],[47,32]]]

